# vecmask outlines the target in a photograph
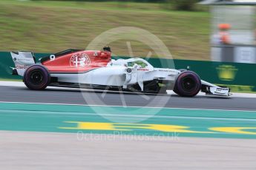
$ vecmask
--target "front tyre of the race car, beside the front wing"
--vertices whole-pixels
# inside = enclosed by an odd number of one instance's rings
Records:
[[[174,92],[177,95],[184,97],[193,97],[200,92],[201,89],[201,80],[200,77],[191,71],[181,72],[177,77]]]

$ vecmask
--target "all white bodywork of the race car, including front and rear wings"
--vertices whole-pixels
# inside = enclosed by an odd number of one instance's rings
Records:
[[[32,52],[11,52],[11,55],[19,75],[23,76],[27,67],[35,64]],[[145,81],[160,80],[175,84],[178,75],[180,70],[154,68],[142,58],[111,60],[106,67],[75,74],[50,72],[51,77],[58,78],[58,82],[62,83],[122,86],[123,89],[128,89],[129,85],[139,84],[141,91],[144,91]],[[206,81],[201,82],[208,88],[207,95],[231,95],[229,88],[221,88]]]

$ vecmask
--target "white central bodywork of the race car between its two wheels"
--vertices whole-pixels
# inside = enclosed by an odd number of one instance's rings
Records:
[[[140,62],[147,64],[146,67],[141,67],[134,64],[133,67],[128,67],[128,63]],[[51,76],[57,77],[59,81],[78,84],[96,84],[106,86],[122,86],[124,89],[128,85],[138,83],[143,91],[143,82],[151,81],[153,79],[161,79],[166,81],[175,81],[177,75],[180,73],[177,69],[160,69],[154,68],[148,61],[142,58],[130,58],[112,60],[107,67],[99,67],[82,74],[54,74]]]

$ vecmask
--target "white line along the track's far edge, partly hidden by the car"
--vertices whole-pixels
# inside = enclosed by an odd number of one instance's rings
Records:
[[[0,86],[19,86],[19,87],[25,87],[24,83],[22,81],[0,81]],[[47,89],[68,89],[68,90],[78,90],[79,88],[67,88],[67,87],[59,87],[59,86],[48,86]],[[79,89],[82,91],[97,91],[94,89]],[[128,92],[130,93],[130,92]],[[175,93],[172,90],[167,91],[168,95],[174,95]],[[200,96],[206,96],[205,93],[199,92],[198,95]],[[209,97],[217,97],[219,96],[209,96]],[[233,93],[231,96],[232,98],[256,98],[256,94],[252,93]]]

